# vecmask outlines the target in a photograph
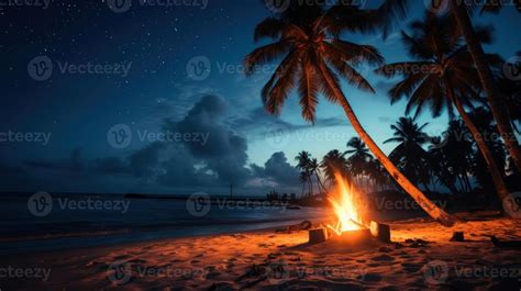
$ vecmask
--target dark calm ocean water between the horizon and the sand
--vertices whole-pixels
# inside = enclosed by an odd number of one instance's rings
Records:
[[[2,194],[0,255],[254,231],[317,221],[325,210],[224,198]]]

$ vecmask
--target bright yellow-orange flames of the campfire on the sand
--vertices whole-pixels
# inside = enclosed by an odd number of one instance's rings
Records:
[[[335,172],[335,179],[337,186],[336,195],[330,195],[329,201],[333,205],[339,222],[336,225],[328,225],[328,227],[337,235],[344,232],[363,230],[359,205],[357,203],[358,192],[339,172]]]

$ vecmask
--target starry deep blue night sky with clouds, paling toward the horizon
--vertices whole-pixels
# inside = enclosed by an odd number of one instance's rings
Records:
[[[134,0],[119,12],[106,1],[70,2],[0,5],[0,133],[10,136],[0,142],[2,192],[223,193],[230,183],[247,194],[299,192],[297,153],[321,159],[355,136],[342,110],[323,99],[314,126],[302,121],[296,98],[280,119],[264,113],[259,94],[268,74],[246,79],[241,72],[242,59],[258,46],[255,25],[273,14],[263,1],[165,7]],[[402,27],[422,16],[422,2]],[[509,58],[521,51],[513,8],[477,18],[496,29],[488,52]],[[377,34],[344,37],[375,45],[387,61],[407,59],[398,31],[386,41]],[[34,66],[45,61],[52,74],[44,66],[34,77]],[[193,65],[209,68],[208,77],[192,76]],[[348,86],[344,91],[383,145],[404,104],[390,105],[391,82],[372,69],[363,74],[377,94]],[[419,122],[440,134],[447,117],[425,113]],[[157,133],[171,133],[170,139],[157,142]],[[129,142],[114,144],[117,137]]]

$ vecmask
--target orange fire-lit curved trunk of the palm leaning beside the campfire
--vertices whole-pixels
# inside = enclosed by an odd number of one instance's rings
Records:
[[[453,226],[456,223],[456,219],[444,210],[440,209],[434,204],[429,198],[423,194],[423,192],[418,189],[407,177],[401,174],[398,168],[392,164],[392,161],[386,156],[386,154],[378,147],[378,145],[373,141],[373,138],[367,134],[367,132],[362,126],[358,117],[356,116],[353,108],[351,108],[350,102],[345,98],[344,93],[336,87],[332,87],[334,93],[340,100],[342,108],[344,109],[345,115],[350,120],[353,128],[356,131],[362,141],[367,145],[369,150],[375,155],[375,157],[380,161],[380,164],[386,168],[389,175],[400,184],[400,187],[414,199],[414,201],[434,220],[440,222],[445,226]]]

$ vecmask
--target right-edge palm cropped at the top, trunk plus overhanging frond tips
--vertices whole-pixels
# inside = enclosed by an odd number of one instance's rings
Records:
[[[433,0],[434,1],[434,0]],[[475,30],[470,21],[469,11],[475,7],[467,5],[466,2],[461,0],[436,0],[439,5],[446,4],[451,8],[451,14],[456,21],[457,34],[463,34],[465,42],[467,43],[467,49],[470,53],[472,60],[476,65],[475,69],[478,72],[483,88],[487,93],[487,99],[496,120],[497,127],[501,133],[505,144],[510,153],[510,156],[514,160],[518,170],[521,170],[521,149],[512,130],[512,125],[508,117],[506,110],[502,108],[503,94],[497,86],[494,75],[490,70],[489,63],[487,61],[487,55],[485,54],[481,42],[479,40],[479,32]],[[483,7],[481,11],[497,12],[502,7],[495,0],[486,0],[486,5]],[[378,19],[379,24],[385,32],[390,30],[390,26],[396,22],[401,22],[406,14],[407,8],[410,5],[409,0],[386,0],[380,9],[373,14]],[[516,3],[518,11],[521,12],[521,2]],[[400,13],[397,13],[400,12]],[[385,33],[386,35],[387,33]]]

